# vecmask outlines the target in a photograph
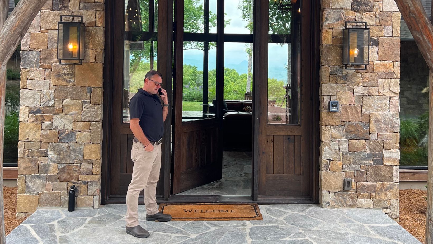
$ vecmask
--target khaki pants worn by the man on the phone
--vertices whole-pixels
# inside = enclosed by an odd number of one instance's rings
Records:
[[[134,227],[138,222],[138,198],[140,191],[144,189],[144,204],[146,213],[154,215],[158,213],[156,204],[156,182],[159,180],[161,169],[161,143],[154,145],[152,152],[144,150],[142,143],[132,142],[131,158],[134,162],[132,180],[126,193],[126,226]]]

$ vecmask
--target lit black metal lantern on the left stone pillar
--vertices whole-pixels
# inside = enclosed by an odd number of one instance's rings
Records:
[[[70,21],[64,21],[63,19]],[[80,22],[74,21],[79,19]],[[61,65],[81,65],[84,59],[83,16],[61,15],[57,29],[57,59]]]

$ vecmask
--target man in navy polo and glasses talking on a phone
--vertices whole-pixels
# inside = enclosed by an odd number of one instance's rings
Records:
[[[149,232],[138,222],[138,198],[141,190],[144,189],[146,220],[171,220],[170,215],[158,211],[155,197],[161,168],[161,140],[168,114],[167,92],[161,89],[163,104],[157,95],[161,82],[161,73],[156,70],[147,72],[143,88],[129,101],[129,128],[135,137],[131,150],[134,162],[132,180],[126,193],[126,233],[139,238],[149,237]]]

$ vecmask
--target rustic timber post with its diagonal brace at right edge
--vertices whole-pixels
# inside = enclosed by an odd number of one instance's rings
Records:
[[[395,0],[410,33],[430,68],[429,80],[429,146],[427,178],[426,241],[433,243],[433,25],[420,0]]]

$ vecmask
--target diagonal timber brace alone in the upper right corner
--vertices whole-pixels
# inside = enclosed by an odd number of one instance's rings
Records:
[[[433,70],[433,26],[420,0],[395,0],[418,48]]]

